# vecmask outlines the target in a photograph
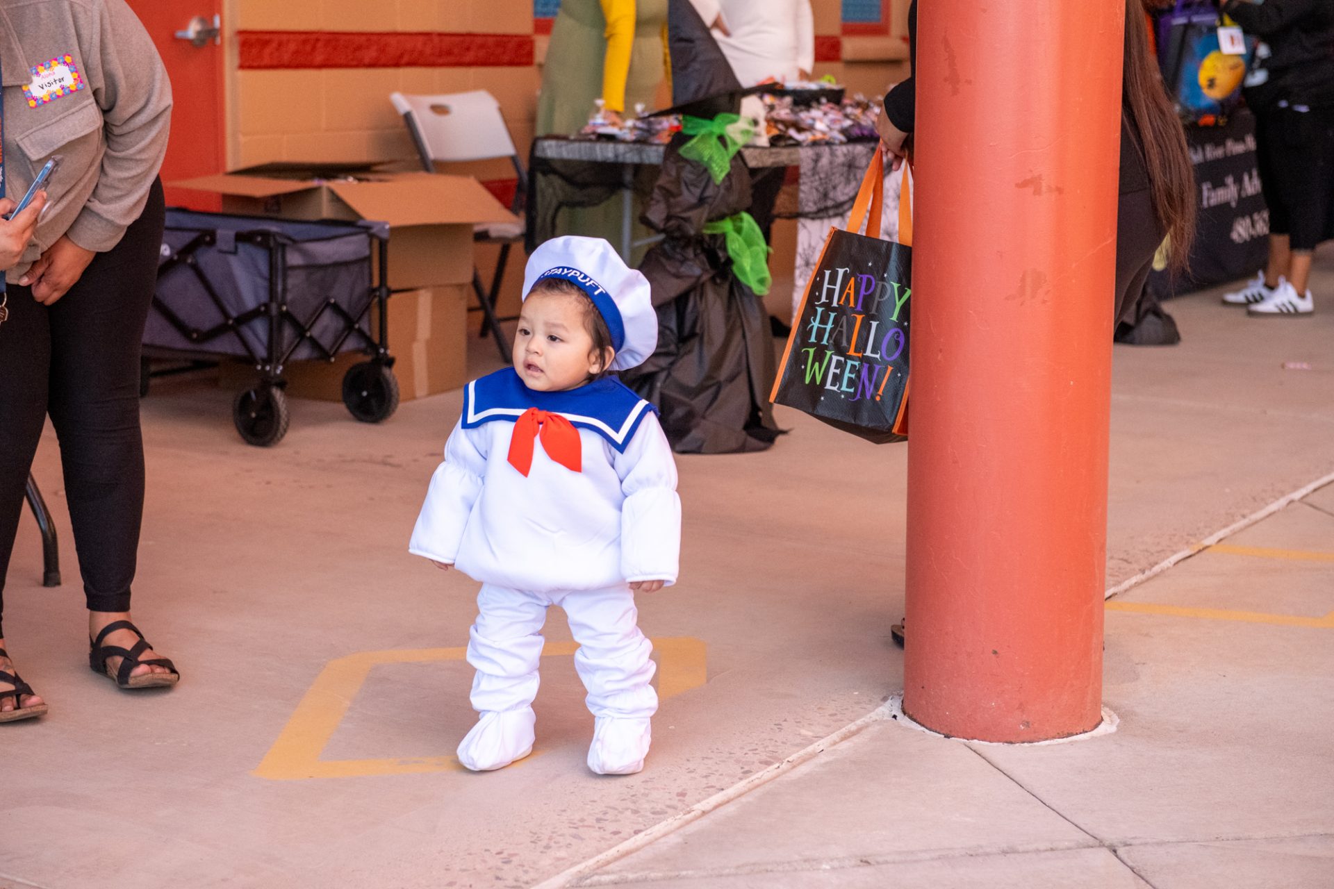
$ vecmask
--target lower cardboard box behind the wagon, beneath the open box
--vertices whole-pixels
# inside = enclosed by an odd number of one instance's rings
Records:
[[[471,289],[446,285],[395,293],[390,297],[390,355],[399,381],[399,400],[411,401],[459,389],[467,383],[467,305]],[[379,324],[372,307],[371,329]],[[329,361],[293,361],[283,369],[287,395],[319,401],[343,400],[343,375],[366,361],[366,355],[348,352]],[[219,385],[231,391],[255,385],[248,364],[221,365]]]

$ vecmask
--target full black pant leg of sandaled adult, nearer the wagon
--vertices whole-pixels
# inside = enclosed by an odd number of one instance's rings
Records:
[[[129,610],[144,509],[139,359],[157,277],[163,192],[51,307],[48,411],[89,610]]]

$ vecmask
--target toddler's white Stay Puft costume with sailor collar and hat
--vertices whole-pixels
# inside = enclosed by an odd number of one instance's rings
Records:
[[[547,241],[528,260],[524,300],[546,279],[592,300],[611,332],[611,369],[652,355],[648,281],[607,241]],[[560,605],[596,717],[588,768],[643,769],[658,694],[630,584],[675,582],[680,550],[676,466],[651,404],[614,379],[563,392],[528,389],[514,368],[474,380],[410,550],[483,584],[468,638],[479,720],[459,745],[463,765],[499,769],[532,750],[540,629]]]

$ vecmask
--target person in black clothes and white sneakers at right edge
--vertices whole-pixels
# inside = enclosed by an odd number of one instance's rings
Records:
[[[1243,93],[1255,113],[1270,232],[1265,271],[1223,303],[1251,316],[1310,315],[1313,252],[1325,240],[1334,192],[1334,4],[1226,0],[1221,8],[1263,40]]]

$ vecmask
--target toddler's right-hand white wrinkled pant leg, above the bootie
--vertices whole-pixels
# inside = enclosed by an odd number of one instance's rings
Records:
[[[635,594],[628,586],[564,593],[559,605],[579,642],[575,669],[588,689],[594,716],[648,718],[658,712],[658,692],[650,684],[652,642],[635,622]]]

